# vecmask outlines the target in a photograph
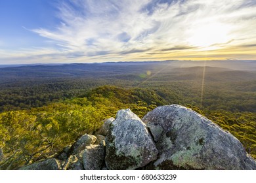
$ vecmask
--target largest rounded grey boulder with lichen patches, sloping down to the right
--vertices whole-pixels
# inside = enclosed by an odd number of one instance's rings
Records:
[[[238,139],[193,110],[161,106],[142,120],[160,152],[153,169],[256,169]]]

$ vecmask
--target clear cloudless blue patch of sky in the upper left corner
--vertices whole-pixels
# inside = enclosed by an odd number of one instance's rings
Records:
[[[1,48],[12,50],[45,45],[45,38],[39,37],[28,29],[34,27],[51,28],[58,24],[58,19],[54,18],[54,10],[56,9],[49,2],[43,0],[1,0]]]

